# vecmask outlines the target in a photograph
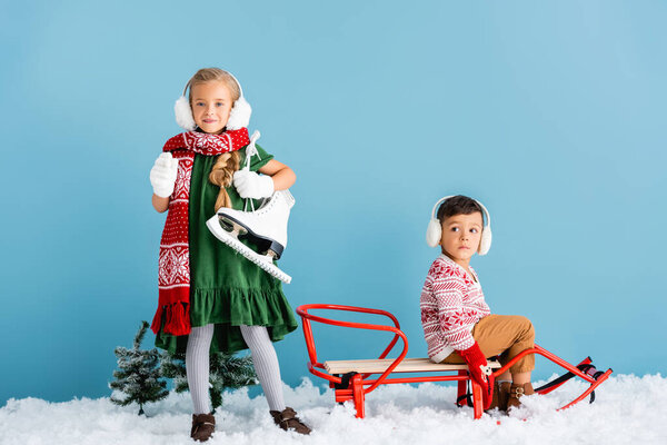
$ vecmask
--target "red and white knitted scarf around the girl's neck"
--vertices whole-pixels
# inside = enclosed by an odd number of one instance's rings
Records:
[[[182,132],[169,139],[162,151],[178,159],[178,174],[169,212],[160,241],[159,301],[151,329],[171,335],[190,333],[190,250],[188,239],[188,202],[195,154],[217,156],[236,151],[250,142],[248,129],[229,130],[221,135]]]

